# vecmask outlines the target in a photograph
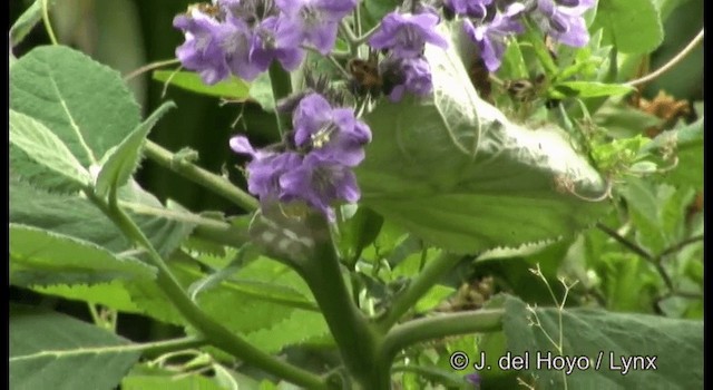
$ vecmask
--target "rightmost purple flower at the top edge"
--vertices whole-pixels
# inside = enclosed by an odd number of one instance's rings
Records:
[[[530,16],[554,39],[583,47],[589,41],[589,32],[582,16],[595,4],[596,0],[537,0]]]

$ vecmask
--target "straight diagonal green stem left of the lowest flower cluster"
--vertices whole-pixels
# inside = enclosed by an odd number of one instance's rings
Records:
[[[174,158],[175,155],[173,153],[164,149],[160,145],[150,140],[146,140],[146,147],[144,150],[146,152],[146,156],[158,163],[158,165],[166,167],[186,177],[187,179],[211,189],[217,195],[223,196],[224,198],[235,203],[246,211],[257,209],[257,201],[248,193],[233,185],[227,179],[212,174],[198,167],[197,165],[187,162],[176,164],[176,159]]]

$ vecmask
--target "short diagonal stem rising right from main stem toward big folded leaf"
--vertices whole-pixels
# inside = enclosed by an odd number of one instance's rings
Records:
[[[401,316],[418,302],[438,281],[449,272],[462,256],[451,253],[443,253],[438,259],[426,265],[423,271],[411,281],[407,290],[397,296],[389,311],[379,321],[379,326],[383,332],[399,322]]]

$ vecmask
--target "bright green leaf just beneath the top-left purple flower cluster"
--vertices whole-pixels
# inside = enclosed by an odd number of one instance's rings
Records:
[[[172,86],[189,90],[192,92],[234,99],[246,100],[251,86],[244,80],[232,76],[229,79],[208,86],[193,71],[155,70],[154,80],[168,82]]]

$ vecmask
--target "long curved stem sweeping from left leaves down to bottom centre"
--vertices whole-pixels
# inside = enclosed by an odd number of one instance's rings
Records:
[[[305,386],[310,389],[326,389],[325,382],[319,376],[283,362],[261,351],[204,313],[201,308],[188,298],[178,280],[170,272],[168,265],[154,248],[154,245],[152,245],[146,235],[144,235],[144,232],[141,232],[136,223],[119,207],[115,194],[109,196],[108,204],[89,191],[87,192],[87,197],[114,222],[124,235],[136,245],[146,250],[152,265],[158,270],[156,275],[158,287],[186,321],[195,328],[198,333],[204,335],[211,344],[248,364],[253,364],[296,384]]]

